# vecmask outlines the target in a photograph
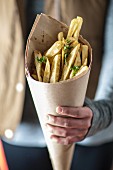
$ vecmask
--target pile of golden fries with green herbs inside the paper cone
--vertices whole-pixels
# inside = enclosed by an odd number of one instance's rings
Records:
[[[79,33],[83,19],[74,18],[69,26],[67,37],[63,32],[42,55],[40,51],[33,53],[35,68],[32,77],[40,82],[56,83],[80,75],[88,70],[88,46],[79,42]]]

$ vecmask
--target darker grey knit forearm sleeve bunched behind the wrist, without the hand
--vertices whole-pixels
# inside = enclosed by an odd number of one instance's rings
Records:
[[[113,121],[113,100],[93,101],[86,98],[84,105],[88,106],[93,112],[92,125],[87,137],[107,128]]]

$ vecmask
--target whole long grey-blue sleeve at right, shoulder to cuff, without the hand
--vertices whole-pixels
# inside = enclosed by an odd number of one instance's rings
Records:
[[[96,113],[91,130],[88,133],[89,136],[106,128],[109,124],[113,124],[113,1],[110,0],[109,2],[105,26],[104,54],[95,101],[85,101],[85,104]]]

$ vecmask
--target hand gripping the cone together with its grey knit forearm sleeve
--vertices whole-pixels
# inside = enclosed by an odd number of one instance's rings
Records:
[[[84,107],[57,107],[56,117],[48,114],[47,129],[54,141],[67,145],[106,128],[113,120],[113,101],[85,100]]]

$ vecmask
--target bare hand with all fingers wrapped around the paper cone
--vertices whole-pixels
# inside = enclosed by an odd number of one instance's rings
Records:
[[[91,126],[93,113],[88,107],[57,107],[59,116],[48,114],[47,129],[50,138],[68,145],[83,140]],[[60,117],[65,116],[65,117]]]

